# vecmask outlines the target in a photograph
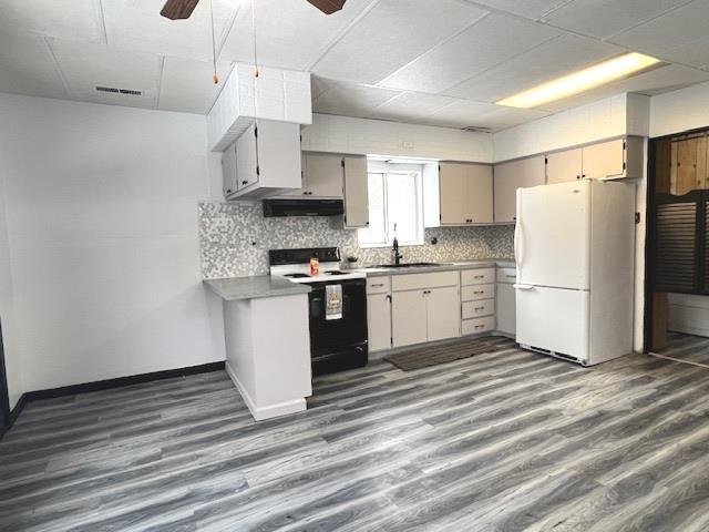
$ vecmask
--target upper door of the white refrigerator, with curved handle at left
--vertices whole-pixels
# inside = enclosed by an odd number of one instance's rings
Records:
[[[517,283],[589,288],[590,182],[517,190]]]

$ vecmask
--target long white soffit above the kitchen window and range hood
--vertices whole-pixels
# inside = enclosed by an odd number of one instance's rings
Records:
[[[491,163],[490,133],[314,114],[302,129],[302,149],[399,157]]]

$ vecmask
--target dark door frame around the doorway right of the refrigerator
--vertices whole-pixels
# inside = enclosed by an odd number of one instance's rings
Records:
[[[668,135],[654,136],[647,141],[647,187],[646,187],[646,208],[645,208],[645,305],[643,316],[643,352],[653,352],[653,317],[655,313],[655,306],[653,301],[653,286],[655,285],[655,264],[653,257],[655,256],[655,241],[657,234],[657,227],[655,224],[655,208],[657,203],[655,202],[655,188],[656,188],[656,171],[655,164],[657,162],[657,145],[661,141],[667,140],[680,140],[684,136],[696,135],[699,133],[709,133],[709,125],[703,127],[696,127],[692,130],[685,130],[677,133],[670,133]]]

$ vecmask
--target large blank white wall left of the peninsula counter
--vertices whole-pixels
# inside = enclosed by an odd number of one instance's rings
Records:
[[[224,360],[199,272],[205,116],[7,94],[0,116],[13,397]]]

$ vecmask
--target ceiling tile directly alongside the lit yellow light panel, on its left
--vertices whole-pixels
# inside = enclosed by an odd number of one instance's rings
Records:
[[[452,96],[495,102],[621,52],[584,37],[563,34],[445,91]]]

